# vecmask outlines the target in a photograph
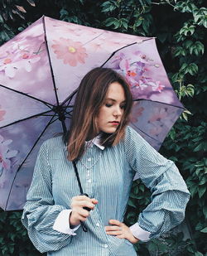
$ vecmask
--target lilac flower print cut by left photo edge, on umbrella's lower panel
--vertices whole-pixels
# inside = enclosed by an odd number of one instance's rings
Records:
[[[12,139],[4,141],[2,135],[0,135],[0,176],[2,176],[3,170],[11,168],[11,158],[17,155],[17,150],[9,149],[8,145],[11,143]]]

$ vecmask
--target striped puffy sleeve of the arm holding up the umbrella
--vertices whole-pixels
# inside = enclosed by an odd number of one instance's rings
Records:
[[[62,210],[65,210],[63,205],[54,204],[51,166],[44,142],[36,159],[22,214],[22,224],[26,227],[31,242],[41,253],[59,250],[70,243],[70,234],[53,229],[55,220]]]

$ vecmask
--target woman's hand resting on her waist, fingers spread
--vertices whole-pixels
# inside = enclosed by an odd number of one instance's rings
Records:
[[[119,239],[128,239],[132,244],[136,244],[139,241],[124,223],[118,220],[109,220],[109,224],[110,226],[105,226],[106,234],[115,235]]]

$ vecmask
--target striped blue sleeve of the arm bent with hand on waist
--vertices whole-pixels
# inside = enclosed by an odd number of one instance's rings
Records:
[[[149,239],[157,238],[184,220],[190,192],[175,163],[132,128],[127,129],[125,151],[129,165],[152,192],[152,201],[139,215],[137,225],[151,233]]]

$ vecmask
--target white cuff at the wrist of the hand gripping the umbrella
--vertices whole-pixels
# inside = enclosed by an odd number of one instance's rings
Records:
[[[79,225],[74,229],[70,229],[69,217],[71,211],[72,210],[61,210],[52,228],[60,233],[75,235],[75,230],[79,228]]]

